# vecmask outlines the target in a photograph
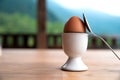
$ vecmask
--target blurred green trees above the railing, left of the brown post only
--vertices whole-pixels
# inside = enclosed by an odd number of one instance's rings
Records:
[[[0,13],[0,33],[36,33],[36,20],[21,13]]]

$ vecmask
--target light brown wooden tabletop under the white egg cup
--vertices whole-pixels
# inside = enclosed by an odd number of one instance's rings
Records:
[[[120,80],[120,61],[109,50],[88,50],[83,61],[89,70],[84,72],[60,70],[66,60],[61,49],[4,49],[0,80]]]

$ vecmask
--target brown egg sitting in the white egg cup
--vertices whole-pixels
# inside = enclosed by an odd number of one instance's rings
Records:
[[[71,17],[64,26],[64,33],[86,32],[83,21],[77,17]]]

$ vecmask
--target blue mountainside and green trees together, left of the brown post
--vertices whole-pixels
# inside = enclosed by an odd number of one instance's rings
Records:
[[[36,34],[37,0],[0,0],[0,33]]]

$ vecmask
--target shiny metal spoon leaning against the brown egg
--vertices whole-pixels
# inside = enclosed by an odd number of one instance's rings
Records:
[[[115,53],[115,51],[110,47],[110,45],[109,45],[101,36],[96,35],[96,34],[92,31],[92,29],[90,28],[90,26],[89,26],[89,24],[88,24],[88,21],[87,21],[87,19],[86,19],[86,16],[84,15],[84,13],[83,13],[83,20],[84,20],[85,26],[86,26],[86,28],[88,29],[88,31],[89,31],[93,36],[98,37],[99,39],[101,39],[101,40],[107,45],[107,47],[114,53],[114,55],[120,60],[120,57]]]

